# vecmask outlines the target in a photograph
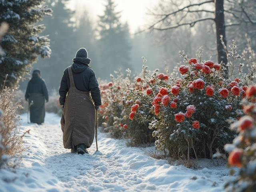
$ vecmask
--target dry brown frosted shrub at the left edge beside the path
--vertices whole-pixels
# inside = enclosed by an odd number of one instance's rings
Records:
[[[14,92],[4,88],[0,94],[0,167],[25,150],[22,137],[26,132],[22,136],[19,134],[17,108],[20,106],[12,102]]]

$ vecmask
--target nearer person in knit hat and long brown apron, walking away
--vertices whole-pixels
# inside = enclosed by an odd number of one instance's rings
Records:
[[[80,48],[73,64],[64,70],[60,82],[61,128],[64,148],[78,154],[88,153],[101,105],[100,88],[85,48]]]

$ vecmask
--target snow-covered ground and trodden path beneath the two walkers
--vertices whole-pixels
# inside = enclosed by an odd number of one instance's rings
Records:
[[[95,141],[89,154],[70,153],[62,145],[59,116],[46,113],[41,126],[21,117],[22,132],[30,129],[24,137],[29,148],[20,168],[0,170],[0,192],[222,192],[231,178],[225,165],[200,160],[197,170],[172,166],[149,157],[147,148],[127,147],[106,133],[98,133],[102,154],[94,154]]]

